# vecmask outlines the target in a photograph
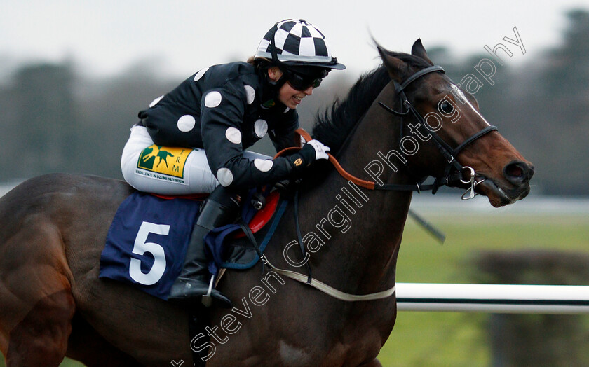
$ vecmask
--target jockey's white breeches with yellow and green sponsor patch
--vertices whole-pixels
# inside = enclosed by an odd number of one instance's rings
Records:
[[[243,151],[243,156],[250,160],[271,158],[250,151]],[[147,129],[137,125],[131,127],[123,148],[121,170],[130,186],[149,193],[211,193],[219,185],[204,149],[155,146]]]

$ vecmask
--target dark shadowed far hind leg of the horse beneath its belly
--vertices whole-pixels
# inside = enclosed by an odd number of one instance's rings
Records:
[[[67,356],[81,361],[88,367],[134,367],[141,366],[102,338],[80,314],[72,319],[72,335],[69,336]]]

